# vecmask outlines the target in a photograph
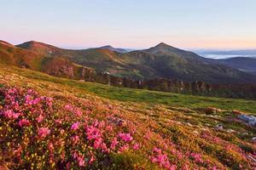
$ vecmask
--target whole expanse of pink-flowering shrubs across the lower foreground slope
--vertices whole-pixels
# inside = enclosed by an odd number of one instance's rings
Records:
[[[0,88],[3,162],[17,169],[247,169],[236,144],[211,132],[121,112],[112,105],[58,100],[32,89]],[[189,141],[190,139],[190,141]],[[256,157],[254,152],[252,157]],[[218,160],[217,160],[218,159]],[[253,166],[252,166],[253,167]]]

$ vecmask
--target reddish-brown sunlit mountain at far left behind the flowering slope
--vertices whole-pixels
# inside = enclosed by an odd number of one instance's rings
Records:
[[[25,42],[18,46],[6,42],[0,43],[0,63],[42,71],[53,76],[77,79],[83,76],[84,70],[93,70],[74,64],[61,53],[61,48],[42,42]]]

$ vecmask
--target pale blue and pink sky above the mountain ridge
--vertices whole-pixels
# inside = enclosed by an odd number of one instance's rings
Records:
[[[0,39],[62,48],[256,48],[255,0],[0,0]]]

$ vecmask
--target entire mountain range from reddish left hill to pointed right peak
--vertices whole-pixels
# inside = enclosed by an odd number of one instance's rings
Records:
[[[217,59],[205,59],[198,54],[174,48],[163,42],[153,48],[125,54],[113,51],[109,46],[107,48],[73,50],[35,41],[9,48],[34,55],[35,57],[32,57],[31,60],[32,62],[37,61],[37,66],[32,63],[27,64],[34,70],[51,72],[51,74],[67,74],[67,77],[81,77],[83,68],[90,68],[96,73],[108,72],[114,77],[126,77],[133,80],[167,78],[215,84],[256,82],[255,76],[224,65]],[[9,55],[12,54],[9,53]],[[55,70],[56,59],[65,60],[65,62],[61,62],[62,66],[58,67],[57,71]],[[45,66],[47,63],[55,64]]]

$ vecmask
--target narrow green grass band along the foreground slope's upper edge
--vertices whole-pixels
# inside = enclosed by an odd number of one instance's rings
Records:
[[[102,85],[94,82],[79,82],[59,77],[51,77],[37,71],[29,71],[20,68],[7,68],[1,65],[1,70],[19,74],[22,77],[27,77],[33,80],[43,82],[55,82],[69,88],[79,89],[80,95],[84,93],[96,94],[102,98],[114,99],[119,101],[131,101],[139,103],[147,103],[151,105],[170,105],[182,106],[187,108],[195,107],[217,107],[225,110],[240,110],[250,113],[256,113],[256,101],[246,99],[224,99],[203,96],[192,96],[185,94],[172,94],[166,92],[156,92],[143,89],[132,88],[116,88],[108,85]]]

